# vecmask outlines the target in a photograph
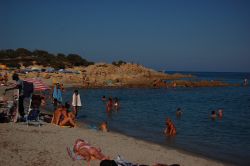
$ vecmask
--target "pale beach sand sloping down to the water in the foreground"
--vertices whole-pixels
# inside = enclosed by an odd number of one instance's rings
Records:
[[[135,164],[225,165],[118,133],[103,133],[86,127],[62,128],[48,123],[38,127],[27,126],[26,123],[1,123],[0,136],[0,165],[87,165],[84,160],[73,161],[67,154],[66,147],[72,147],[78,138],[100,147],[110,159],[121,155]],[[99,164],[98,160],[90,163],[91,166]]]

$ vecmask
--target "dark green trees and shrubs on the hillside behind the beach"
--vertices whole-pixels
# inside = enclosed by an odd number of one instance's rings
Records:
[[[43,65],[44,67],[53,67],[56,69],[64,69],[72,66],[88,66],[93,65],[94,62],[89,62],[78,54],[64,55],[59,53],[57,55],[51,54],[44,50],[29,51],[25,48],[18,48],[16,50],[6,49],[0,50],[0,63],[6,64],[8,67],[20,67],[23,64],[25,67],[33,63]]]

